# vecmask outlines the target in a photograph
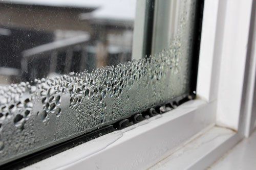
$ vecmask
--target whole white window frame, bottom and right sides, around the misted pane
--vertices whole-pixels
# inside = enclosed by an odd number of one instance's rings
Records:
[[[145,169],[158,161],[160,167],[163,158],[163,164],[172,162],[169,165],[175,167],[210,166],[253,129],[256,55],[255,35],[249,38],[252,2],[205,0],[196,100],[25,169]],[[139,48],[142,43],[135,52],[140,53]],[[214,133],[217,137],[212,138]],[[189,143],[197,149],[189,148]]]

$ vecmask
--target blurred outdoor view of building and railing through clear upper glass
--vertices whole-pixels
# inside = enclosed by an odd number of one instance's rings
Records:
[[[0,2],[0,84],[131,60],[136,0]]]

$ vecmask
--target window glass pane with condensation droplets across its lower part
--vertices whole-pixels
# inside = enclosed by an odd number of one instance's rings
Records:
[[[195,1],[163,2],[135,57],[135,0],[1,1],[0,164],[188,93]]]

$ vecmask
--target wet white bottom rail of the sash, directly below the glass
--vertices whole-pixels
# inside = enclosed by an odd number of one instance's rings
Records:
[[[172,111],[83,143],[25,169],[151,167],[203,129],[213,127],[215,104],[202,100],[186,102]]]

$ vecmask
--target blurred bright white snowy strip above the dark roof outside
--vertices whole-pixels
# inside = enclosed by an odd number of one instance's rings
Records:
[[[0,2],[53,7],[96,8],[91,13],[93,18],[110,20],[134,20],[136,9],[136,0],[0,0]]]

